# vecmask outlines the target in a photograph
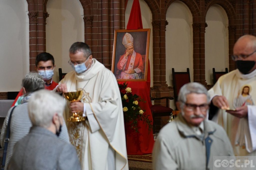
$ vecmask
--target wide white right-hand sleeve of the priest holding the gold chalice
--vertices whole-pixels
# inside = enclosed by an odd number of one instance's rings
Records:
[[[120,97],[119,88],[114,74],[110,71],[105,71],[101,75],[101,88],[99,99],[97,102],[86,103],[86,115],[88,117],[90,128],[96,131],[99,127],[104,131],[109,139],[112,139],[116,128],[124,126],[122,101]],[[99,127],[92,126],[91,122],[94,116]],[[118,129],[118,128],[117,128]]]

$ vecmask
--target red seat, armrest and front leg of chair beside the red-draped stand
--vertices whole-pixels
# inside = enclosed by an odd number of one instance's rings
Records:
[[[166,106],[161,106],[161,105],[152,105],[151,109],[151,113],[152,113],[152,117],[153,117],[153,132],[155,132],[155,117],[161,117],[161,116],[171,116],[172,113],[172,108],[169,107],[169,100],[173,100],[173,97],[160,97],[160,98],[153,98],[150,97],[151,101],[155,101],[155,100],[162,100],[162,99],[166,99]]]

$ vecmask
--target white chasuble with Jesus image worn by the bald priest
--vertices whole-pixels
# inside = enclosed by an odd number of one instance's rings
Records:
[[[211,96],[225,96],[230,109],[247,105],[248,117],[240,119],[219,109],[217,120],[226,130],[235,155],[256,156],[256,70],[249,74],[241,74],[238,69],[231,71],[208,92]]]

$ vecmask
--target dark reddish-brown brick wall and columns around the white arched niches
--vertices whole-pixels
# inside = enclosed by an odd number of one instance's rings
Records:
[[[153,92],[156,97],[172,94],[166,84],[166,12],[175,0],[144,0],[152,13],[153,26]],[[256,0],[180,0],[185,3],[193,16],[193,65],[194,81],[205,86],[204,33],[208,9],[221,5],[229,20],[229,56],[235,41],[243,34],[255,35]],[[94,57],[111,69],[113,38],[115,29],[125,29],[125,4],[127,0],[80,0],[84,10],[85,42],[94,51]],[[46,50],[45,24],[49,16],[47,0],[27,0],[29,17],[29,62],[30,71],[35,71],[37,54]],[[229,70],[236,69],[229,57]],[[152,73],[151,73],[152,74]]]

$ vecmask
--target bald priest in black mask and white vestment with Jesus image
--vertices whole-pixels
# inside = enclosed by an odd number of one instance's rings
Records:
[[[256,156],[256,37],[244,35],[233,48],[237,69],[209,90],[215,120],[226,130],[236,156]]]

